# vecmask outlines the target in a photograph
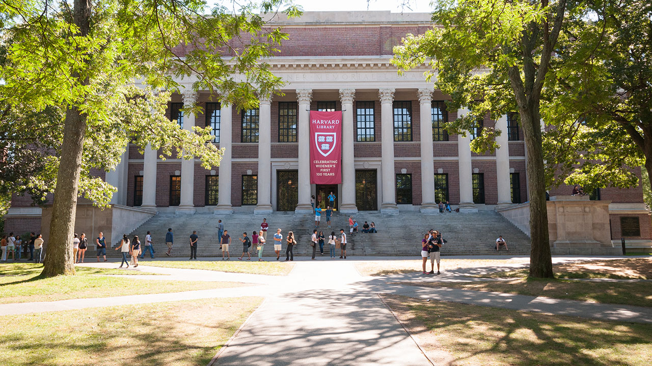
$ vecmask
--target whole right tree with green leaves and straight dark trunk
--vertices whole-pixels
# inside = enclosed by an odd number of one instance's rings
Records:
[[[450,94],[449,108],[470,107],[447,130],[466,134],[478,119],[518,112],[527,148],[530,191],[531,277],[553,277],[546,178],[542,149],[541,101],[551,77],[551,59],[562,29],[576,15],[567,0],[441,0],[433,20],[437,27],[409,35],[394,48],[393,63],[406,70],[428,63],[435,85]],[[472,150],[496,147],[501,132],[484,126]]]

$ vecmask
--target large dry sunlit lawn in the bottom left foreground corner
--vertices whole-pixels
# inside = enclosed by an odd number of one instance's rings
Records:
[[[261,302],[192,300],[2,317],[0,365],[207,365]]]

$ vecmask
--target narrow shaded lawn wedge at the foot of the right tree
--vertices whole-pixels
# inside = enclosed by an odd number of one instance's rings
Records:
[[[564,279],[515,278],[507,281],[474,282],[400,282],[424,287],[503,292],[528,296],[581,300],[621,305],[652,306],[652,283],[649,282],[593,282]]]

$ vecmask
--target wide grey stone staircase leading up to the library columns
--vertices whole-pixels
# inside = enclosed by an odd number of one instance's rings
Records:
[[[164,239],[168,227],[171,227],[175,237],[173,257],[186,257],[190,254],[189,236],[193,230],[199,236],[198,257],[221,257],[217,239],[217,220],[222,219],[224,228],[231,235],[231,257],[238,257],[242,253],[242,245],[238,238],[243,232],[251,236],[252,231],[260,229],[263,217],[269,223],[267,245],[263,256],[274,256],[273,234],[280,228],[283,234],[283,251],[285,255],[285,238],[288,231],[293,231],[299,245],[294,253],[298,256],[312,254],[310,236],[314,229],[314,216],[309,214],[295,214],[294,212],[274,212],[265,216],[254,214],[194,214],[174,215],[157,214],[149,219],[129,236],[138,235],[141,242],[145,241],[145,234],[151,231],[155,243],[156,255],[163,257],[167,250]],[[473,214],[445,213],[424,215],[420,212],[401,212],[398,216],[382,216],[380,212],[359,212],[353,216],[357,219],[360,228],[364,221],[376,223],[378,233],[367,234],[359,232],[348,234],[347,253],[349,256],[419,256],[421,239],[428,229],[436,229],[443,233],[447,243],[441,248],[442,255],[495,255],[494,243],[499,235],[507,241],[511,255],[529,255],[529,238],[494,211],[481,211]],[[325,216],[322,216],[325,220]],[[323,231],[326,237],[334,231],[339,237],[339,230],[348,232],[348,216],[335,212],[331,218],[332,228],[327,229],[325,221],[321,222],[318,231]],[[115,243],[113,243],[115,246]],[[255,255],[255,245],[250,251]],[[319,251],[319,249],[318,249]],[[338,251],[339,252],[339,251]],[[325,256],[329,247],[324,246]],[[118,257],[117,251],[110,251],[111,257]],[[505,252],[501,251],[501,255]],[[319,255],[319,254],[318,254]]]

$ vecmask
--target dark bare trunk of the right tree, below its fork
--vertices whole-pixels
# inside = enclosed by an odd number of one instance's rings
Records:
[[[521,111],[521,122],[526,130],[527,182],[530,202],[530,270],[529,277],[552,278],[550,237],[548,235],[548,208],[546,204],[546,178],[541,143],[539,109],[532,107]],[[528,131],[529,130],[529,131]]]

